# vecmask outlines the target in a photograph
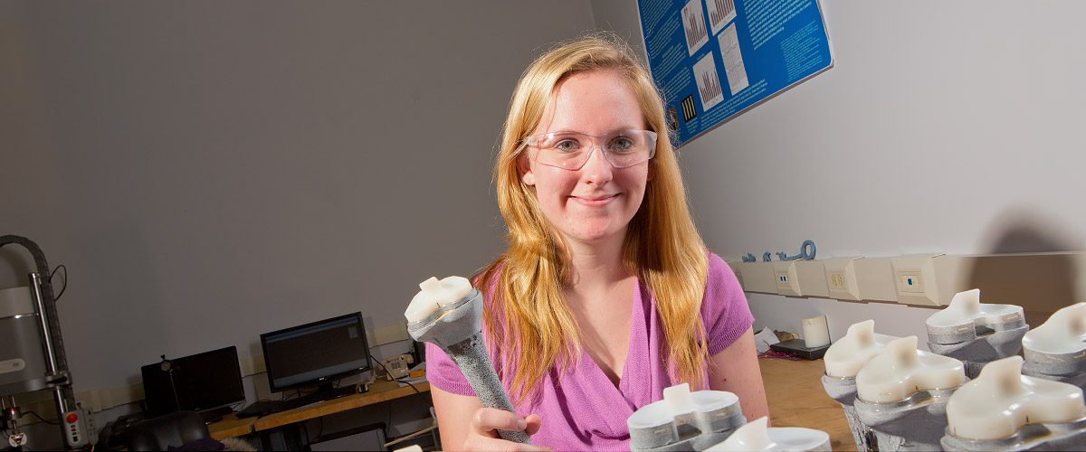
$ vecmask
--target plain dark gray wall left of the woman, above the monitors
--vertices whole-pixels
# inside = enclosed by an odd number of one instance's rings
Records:
[[[591,28],[583,0],[0,3],[0,234],[70,272],[76,390],[355,310],[390,325],[488,263],[513,86]],[[0,287],[25,285],[13,248]]]

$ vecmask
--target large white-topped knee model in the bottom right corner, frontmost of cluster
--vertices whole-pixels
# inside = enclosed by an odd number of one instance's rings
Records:
[[[1021,371],[1021,357],[993,361],[950,397],[948,435],[942,441],[947,450],[1030,450],[1040,443],[1055,447],[1052,441],[1068,436],[1083,438],[1082,389]]]

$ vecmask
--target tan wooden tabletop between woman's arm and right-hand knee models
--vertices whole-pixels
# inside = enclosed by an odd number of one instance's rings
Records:
[[[772,427],[815,428],[830,435],[830,447],[834,451],[858,450],[845,419],[845,410],[826,396],[822,387],[822,374],[825,373],[822,360],[762,358],[758,363]]]

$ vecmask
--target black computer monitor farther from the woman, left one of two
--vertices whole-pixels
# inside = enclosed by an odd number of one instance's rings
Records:
[[[164,366],[165,362],[140,367],[150,416],[178,410],[202,412],[245,401],[237,347],[168,360]]]

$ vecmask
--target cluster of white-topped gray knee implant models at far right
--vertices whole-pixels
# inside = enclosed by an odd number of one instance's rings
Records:
[[[1086,450],[1086,304],[1030,331],[973,289],[925,323],[933,352],[870,320],[826,350],[823,387],[860,451]]]

